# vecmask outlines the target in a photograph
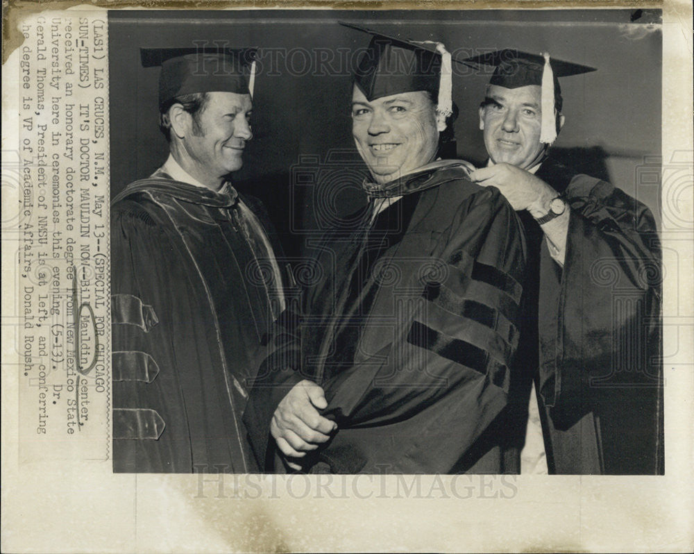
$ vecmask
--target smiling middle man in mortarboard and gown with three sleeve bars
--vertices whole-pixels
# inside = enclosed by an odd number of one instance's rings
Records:
[[[303,325],[249,398],[251,444],[269,471],[276,444],[303,471],[515,473],[520,222],[466,162],[437,159],[452,113],[443,44],[355,28],[372,35],[352,96],[369,208],[317,249],[325,276]]]

